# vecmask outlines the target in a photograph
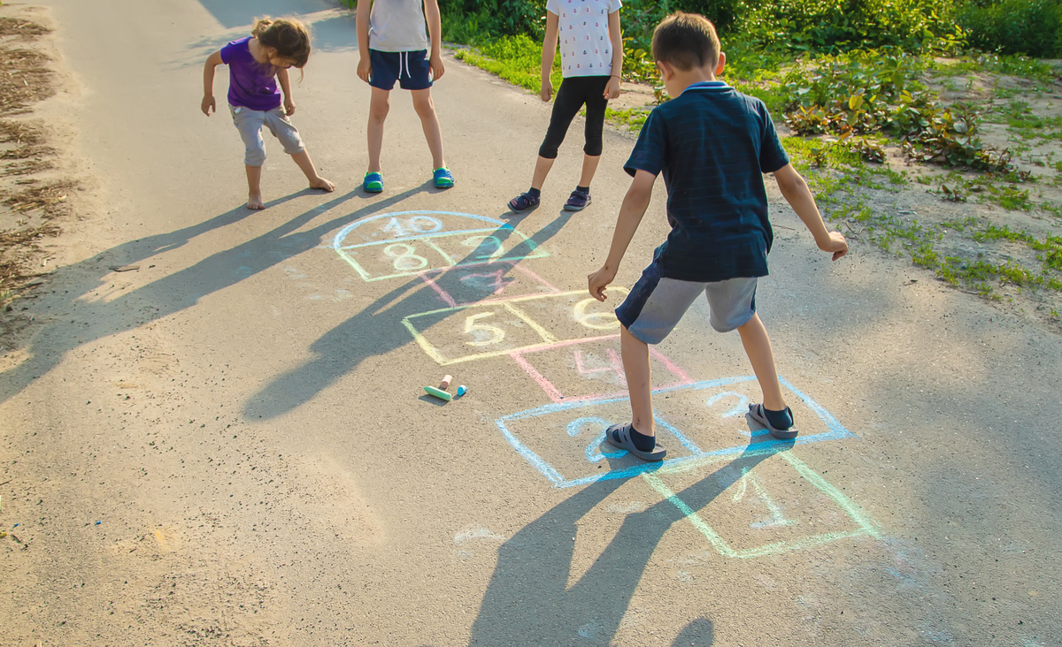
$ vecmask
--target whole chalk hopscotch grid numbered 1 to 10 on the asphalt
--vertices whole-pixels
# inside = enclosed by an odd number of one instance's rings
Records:
[[[782,386],[794,398],[794,410],[803,409],[800,419],[811,422],[802,422],[802,434],[792,441],[765,439],[766,430],[749,430],[743,424],[754,377],[695,381],[650,347],[652,361],[663,369],[654,369],[654,375],[664,375],[653,388],[660,403],[654,416],[657,433],[667,439],[668,458],[645,464],[604,442],[604,431],[614,418],[629,414],[622,361],[615,349],[619,321],[611,305],[589,298],[583,290],[562,291],[529,268],[524,261],[549,253],[511,225],[469,213],[399,211],[347,225],[336,234],[331,247],[364,281],[416,276],[435,293],[442,308],[401,320],[431,360],[450,366],[508,356],[543,389],[550,402],[502,416],[495,423],[510,447],[553,486],[571,488],[640,476],[726,557],[772,555],[846,537],[879,537],[874,522],[852,500],[790,452],[780,451],[857,438],[782,377]],[[614,286],[612,292],[622,300],[628,291]],[[571,374],[556,374],[556,368],[553,374],[539,370],[535,366],[538,353],[568,353]],[[542,365],[555,367],[558,363]],[[612,390],[583,392],[602,385]],[[775,453],[835,508],[836,527],[816,534],[787,518],[770,486],[744,468],[730,500],[760,510],[749,524],[751,530],[784,529],[788,535],[741,547],[713,529],[703,511],[690,507],[667,484],[669,475],[738,456]]]

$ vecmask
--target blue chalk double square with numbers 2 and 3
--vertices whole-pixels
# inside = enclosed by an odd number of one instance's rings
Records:
[[[855,437],[829,412],[784,378],[778,379],[789,391],[790,406],[803,430],[795,440],[774,440],[758,425],[750,429],[743,412],[750,400],[744,394],[756,388],[752,375],[653,389],[656,434],[668,449],[668,457],[658,464],[630,456],[597,457],[596,452],[606,450],[599,449],[594,438],[603,438],[607,424],[630,419],[626,396],[553,402],[504,416],[495,423],[510,445],[560,488],[679,466],[697,467],[742,453],[773,453],[793,444]]]

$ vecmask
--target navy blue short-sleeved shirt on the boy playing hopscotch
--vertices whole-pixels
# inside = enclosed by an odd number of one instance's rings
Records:
[[[764,174],[788,163],[764,102],[721,81],[693,84],[656,106],[623,170],[664,174],[671,233],[654,255],[662,276],[767,276],[774,233]]]

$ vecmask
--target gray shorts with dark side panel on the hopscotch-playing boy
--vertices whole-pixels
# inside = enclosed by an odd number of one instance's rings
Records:
[[[719,332],[744,326],[756,314],[755,278],[713,283],[680,281],[662,277],[653,263],[616,309],[616,318],[638,339],[660,344],[702,292],[708,299],[708,321]]]

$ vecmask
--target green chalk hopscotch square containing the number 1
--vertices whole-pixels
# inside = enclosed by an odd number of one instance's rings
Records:
[[[724,557],[747,559],[878,537],[859,506],[788,451],[754,466],[721,459],[644,476]]]

